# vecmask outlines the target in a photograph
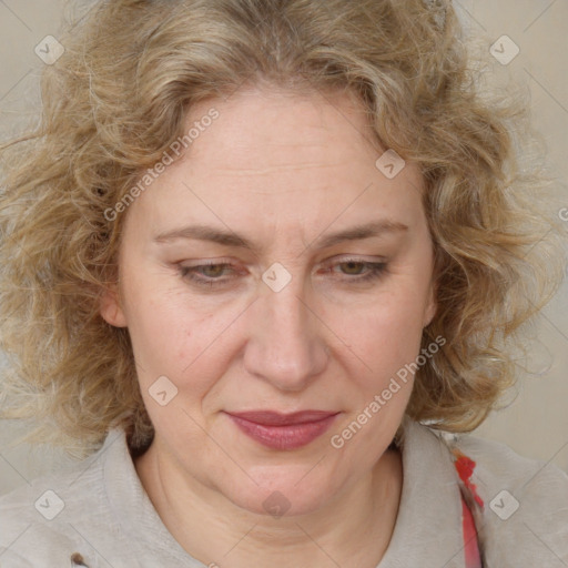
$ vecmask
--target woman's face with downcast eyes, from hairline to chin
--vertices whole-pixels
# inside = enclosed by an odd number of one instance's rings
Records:
[[[195,122],[128,209],[101,313],[129,328],[162,459],[251,511],[316,510],[368,478],[410,395],[435,313],[422,178],[376,164],[345,94],[240,91]]]

